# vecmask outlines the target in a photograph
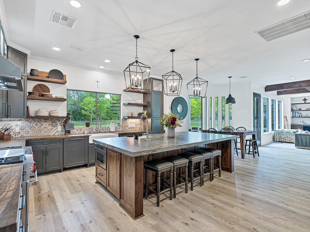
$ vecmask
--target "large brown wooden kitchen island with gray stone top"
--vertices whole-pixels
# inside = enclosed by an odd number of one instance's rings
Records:
[[[175,138],[167,138],[166,134],[154,134],[149,139],[140,137],[138,140],[133,137],[94,139],[95,144],[108,148],[106,173],[99,173],[99,182],[104,183],[120,200],[120,206],[132,218],[137,219],[143,216],[145,161],[178,155],[193,151],[197,146],[207,145],[221,149],[222,170],[233,172],[233,139],[236,137],[186,131],[177,132]],[[103,180],[103,177],[106,179]]]

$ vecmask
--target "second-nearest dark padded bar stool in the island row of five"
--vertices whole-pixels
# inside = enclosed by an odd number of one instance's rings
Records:
[[[179,156],[169,156],[163,158],[163,160],[167,160],[173,163],[173,198],[176,198],[176,188],[182,185],[185,185],[185,193],[188,190],[188,160]],[[185,167],[185,175],[182,175],[182,167]],[[179,175],[176,175],[176,169],[179,169]],[[184,176],[184,178],[182,178]],[[179,184],[177,184],[177,180],[179,180]]]

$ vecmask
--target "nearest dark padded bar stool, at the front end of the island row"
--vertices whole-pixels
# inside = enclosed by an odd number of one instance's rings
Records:
[[[172,189],[173,189],[173,185],[172,185],[172,178],[173,178],[173,163],[167,161],[167,160],[151,160],[151,161],[147,161],[144,163],[144,168],[145,168],[145,199],[147,199],[148,197],[148,190],[150,190],[151,192],[156,193],[157,196],[157,206],[159,206],[159,198],[160,198],[160,193],[161,192],[166,192],[168,190],[170,190],[170,200],[172,200]],[[153,172],[156,173],[156,177],[157,177],[157,182],[153,185],[148,185],[148,170],[151,170]],[[163,174],[163,181],[162,181],[162,185],[163,185],[163,190],[160,191],[160,175],[162,173],[165,173],[167,171],[170,171],[170,186],[168,186],[164,179],[164,174]],[[156,187],[156,191],[151,189],[151,187],[153,186],[157,186]],[[169,188],[165,189],[164,187],[167,186]]]

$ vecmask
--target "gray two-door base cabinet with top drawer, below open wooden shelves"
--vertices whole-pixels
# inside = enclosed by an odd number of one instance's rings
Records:
[[[62,139],[29,141],[28,145],[32,147],[38,173],[62,172]]]

